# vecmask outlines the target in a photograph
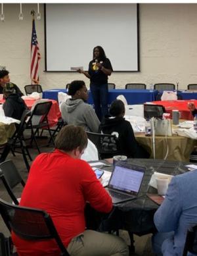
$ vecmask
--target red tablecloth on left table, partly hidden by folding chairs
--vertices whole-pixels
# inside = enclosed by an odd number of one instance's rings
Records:
[[[0,103],[4,103],[4,99],[0,101]],[[29,109],[32,108],[33,104],[35,103],[35,99],[25,99],[24,100],[26,105],[28,106]],[[49,126],[53,127],[57,124],[58,119],[61,117],[61,113],[60,113],[60,108],[59,105],[57,103],[57,101],[50,99],[50,101],[52,101],[52,106],[51,109],[49,111],[48,114],[48,121],[49,121]]]

